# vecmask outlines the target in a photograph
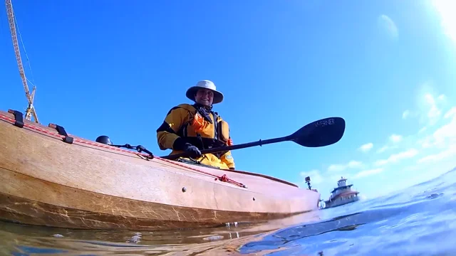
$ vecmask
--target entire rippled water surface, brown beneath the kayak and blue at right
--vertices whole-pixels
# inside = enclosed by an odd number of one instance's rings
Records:
[[[307,215],[305,223],[160,232],[0,222],[0,255],[456,255],[456,169],[388,196]]]

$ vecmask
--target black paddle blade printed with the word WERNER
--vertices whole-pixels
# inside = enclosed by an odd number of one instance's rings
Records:
[[[338,142],[345,132],[345,120],[342,117],[328,117],[306,124],[290,140],[301,146],[328,146]]]

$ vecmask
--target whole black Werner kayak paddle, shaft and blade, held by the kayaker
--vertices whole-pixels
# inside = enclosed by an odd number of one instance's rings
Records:
[[[252,146],[262,146],[265,144],[277,142],[295,142],[301,146],[320,147],[329,146],[338,142],[345,132],[345,120],[342,117],[328,117],[306,124],[301,129],[289,136],[274,139],[259,140],[257,142],[248,142],[232,146],[221,146],[212,149],[201,150],[201,154],[216,153],[234,149],[245,149]],[[188,156],[186,153],[160,156],[163,159],[177,159]]]

